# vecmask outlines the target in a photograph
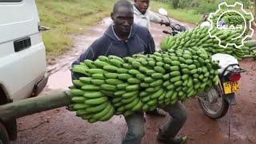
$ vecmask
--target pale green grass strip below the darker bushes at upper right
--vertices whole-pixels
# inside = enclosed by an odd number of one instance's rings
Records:
[[[174,18],[181,22],[196,24],[201,19],[201,15],[195,14],[194,10],[173,9],[170,4],[155,1],[150,2],[150,8],[154,11],[158,11],[158,9],[161,7],[168,11],[168,14],[171,18]]]

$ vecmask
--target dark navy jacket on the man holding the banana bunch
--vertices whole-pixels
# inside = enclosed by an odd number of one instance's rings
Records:
[[[128,39],[122,41],[114,33],[113,25],[110,25],[101,38],[98,38],[83,53],[72,66],[78,65],[86,59],[96,60],[100,55],[116,55],[124,58],[133,54],[152,54],[155,51],[154,39],[145,27],[134,24]],[[78,78],[72,74],[72,78]]]

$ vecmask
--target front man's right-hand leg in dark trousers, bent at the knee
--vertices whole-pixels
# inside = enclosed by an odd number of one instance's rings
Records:
[[[181,102],[176,102],[172,106],[166,106],[163,108],[171,116],[171,119],[166,122],[158,134],[159,139],[174,139],[178,131],[182,129],[182,126],[186,122],[186,109]]]

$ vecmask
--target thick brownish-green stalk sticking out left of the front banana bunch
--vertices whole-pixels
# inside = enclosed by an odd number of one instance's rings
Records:
[[[21,118],[44,110],[67,106],[71,102],[69,90],[53,91],[50,94],[40,94],[38,97],[27,98],[0,106],[0,119],[7,122],[13,118]]]

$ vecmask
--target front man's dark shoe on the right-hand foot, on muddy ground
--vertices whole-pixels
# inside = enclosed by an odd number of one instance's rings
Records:
[[[158,142],[166,143],[166,144],[185,144],[186,136],[178,137],[178,138],[165,138],[158,134]]]

